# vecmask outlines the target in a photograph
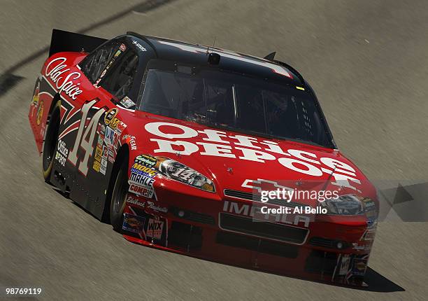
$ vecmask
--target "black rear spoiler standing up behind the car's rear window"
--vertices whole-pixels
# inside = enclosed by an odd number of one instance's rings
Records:
[[[80,52],[84,50],[85,52],[91,52],[105,41],[107,41],[106,38],[97,38],[96,36],[86,36],[85,34],[52,29],[49,56],[64,51]]]

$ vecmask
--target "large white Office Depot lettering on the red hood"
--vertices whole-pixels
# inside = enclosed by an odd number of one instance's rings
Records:
[[[238,134],[227,135],[227,132],[220,130],[197,131],[192,127],[175,123],[147,123],[145,130],[159,137],[150,139],[157,144],[154,153],[192,155],[199,152],[200,155],[235,158],[259,163],[276,160],[285,169],[306,174],[315,179],[323,175],[324,177],[329,176],[332,185],[350,188],[361,193],[361,190],[358,189],[361,181],[357,179],[357,171],[336,158],[318,158],[317,154],[308,151],[294,148],[285,150],[275,141]],[[200,137],[203,142],[185,141],[194,137]],[[180,151],[177,151],[178,149]],[[235,152],[232,152],[232,149]]]

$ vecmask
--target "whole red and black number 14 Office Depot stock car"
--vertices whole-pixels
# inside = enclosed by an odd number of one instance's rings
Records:
[[[134,243],[364,285],[376,189],[274,55],[54,29],[29,110],[45,181]],[[339,193],[263,202],[277,188]]]

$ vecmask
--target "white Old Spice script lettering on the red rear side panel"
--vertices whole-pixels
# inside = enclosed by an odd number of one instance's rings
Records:
[[[80,78],[80,72],[74,71],[69,73],[67,76],[64,73],[70,71],[66,64],[67,59],[65,57],[57,57],[52,59],[45,69],[45,76],[50,78],[58,89],[58,92],[65,92],[71,99],[76,100],[78,94],[83,91],[80,90],[80,83],[74,83],[73,80]]]

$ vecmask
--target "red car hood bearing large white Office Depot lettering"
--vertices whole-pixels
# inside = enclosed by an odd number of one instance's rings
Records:
[[[135,114],[136,153],[168,157],[195,169],[215,183],[221,197],[224,190],[257,193],[283,187],[373,197],[364,174],[337,150]]]

